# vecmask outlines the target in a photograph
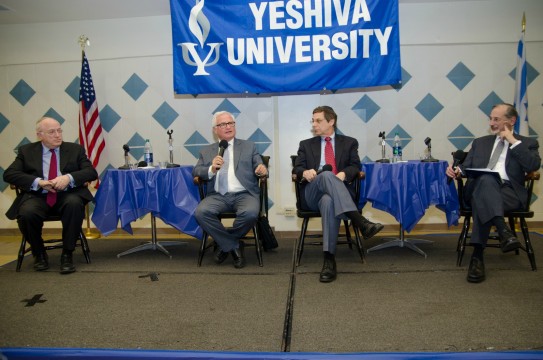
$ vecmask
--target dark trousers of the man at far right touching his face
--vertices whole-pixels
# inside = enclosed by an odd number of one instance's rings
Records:
[[[522,207],[508,182],[500,183],[492,175],[481,175],[466,187],[465,199],[473,212],[471,243],[485,246],[492,228],[492,219],[504,212]]]

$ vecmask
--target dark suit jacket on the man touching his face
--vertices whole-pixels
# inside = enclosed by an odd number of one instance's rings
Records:
[[[522,202],[522,205],[526,207],[528,193],[524,187],[524,176],[530,171],[536,171],[541,166],[541,158],[539,157],[539,144],[537,140],[524,137],[521,135],[514,135],[516,139],[522,141],[519,145],[513,149],[507,151],[507,157],[505,158],[505,171],[511,185],[515,190],[518,199]],[[486,168],[494,142],[496,141],[495,135],[487,135],[473,140],[471,149],[468,152],[468,156],[460,166],[461,169],[466,168]],[[466,200],[470,200],[472,179],[468,179],[466,183]]]

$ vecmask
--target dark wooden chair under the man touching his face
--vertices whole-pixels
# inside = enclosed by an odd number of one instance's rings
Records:
[[[454,154],[454,153],[453,153]],[[521,250],[523,250],[526,255],[528,256],[528,260],[530,260],[530,265],[532,267],[532,270],[537,270],[537,265],[535,262],[535,254],[534,249],[532,247],[532,243],[530,240],[530,232],[528,230],[528,224],[526,222],[526,219],[531,219],[534,217],[534,212],[530,210],[530,204],[532,202],[532,194],[534,189],[534,182],[536,180],[539,180],[540,174],[537,171],[530,172],[526,174],[524,178],[524,185],[526,187],[526,190],[528,191],[527,199],[526,199],[526,208],[520,209],[520,210],[514,210],[514,211],[508,211],[504,214],[504,217],[509,222],[509,227],[517,236],[516,231],[516,220],[518,220],[518,224],[520,226],[520,229],[522,231],[522,236],[524,238],[524,245],[521,246]],[[464,257],[464,252],[466,249],[466,246],[470,246],[468,239],[471,238],[471,219],[473,217],[473,213],[471,211],[471,208],[469,205],[464,201],[464,177],[458,176],[456,178],[456,186],[458,189],[458,202],[460,204],[460,216],[464,217],[464,223],[462,225],[462,231],[460,232],[460,236],[458,237],[458,244],[456,246],[456,265],[462,266],[462,258]],[[499,248],[500,244],[500,238],[497,234],[492,233],[487,243],[487,247],[493,247],[493,248]],[[493,241],[497,240],[497,241]],[[518,255],[519,251],[516,250],[515,253]]]

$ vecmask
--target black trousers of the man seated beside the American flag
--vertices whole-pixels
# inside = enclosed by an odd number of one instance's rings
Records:
[[[19,229],[32,248],[32,254],[44,252],[42,229],[49,215],[60,215],[62,222],[62,244],[64,250],[73,251],[79,238],[86,201],[79,195],[60,192],[51,208],[45,202],[45,194],[23,201],[18,210]]]

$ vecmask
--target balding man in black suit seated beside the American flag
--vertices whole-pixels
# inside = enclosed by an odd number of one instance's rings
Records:
[[[49,215],[59,214],[63,250],[60,273],[75,271],[72,252],[79,238],[85,205],[93,199],[86,184],[98,178],[82,146],[64,142],[60,123],[43,117],[36,123],[37,142],[19,147],[15,161],[4,172],[4,181],[20,193],[6,212],[17,219],[19,229],[32,248],[34,269],[45,271],[49,259],[42,229]]]

